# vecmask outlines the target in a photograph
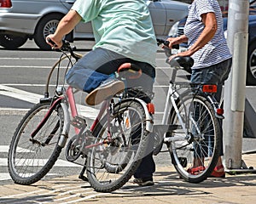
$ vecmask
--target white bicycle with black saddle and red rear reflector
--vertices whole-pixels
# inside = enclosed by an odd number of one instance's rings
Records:
[[[159,44],[167,44],[158,39]],[[205,180],[216,166],[220,146],[220,120],[223,109],[212,96],[215,84],[175,82],[177,71],[191,71],[194,60],[176,57],[171,62],[171,49],[166,50],[166,62],[173,68],[164,116],[160,125],[154,125],[154,155],[162,144],[170,152],[172,164],[180,177],[191,183]],[[185,90],[184,90],[185,89]]]

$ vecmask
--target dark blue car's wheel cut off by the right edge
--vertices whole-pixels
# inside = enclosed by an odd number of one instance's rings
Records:
[[[256,85],[256,42],[249,45],[247,56],[247,85]]]

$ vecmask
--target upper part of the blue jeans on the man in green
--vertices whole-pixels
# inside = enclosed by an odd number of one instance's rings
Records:
[[[139,80],[127,82],[126,87],[142,87],[144,90],[152,91],[155,77],[155,69],[152,65],[126,58],[104,48],[96,48],[79,59],[67,72],[66,80],[73,88],[90,93],[103,81],[113,77],[113,73],[118,70],[119,66],[127,62],[138,65],[142,69],[143,75]]]

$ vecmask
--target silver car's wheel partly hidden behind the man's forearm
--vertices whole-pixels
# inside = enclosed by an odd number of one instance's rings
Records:
[[[39,48],[44,50],[51,49],[49,44],[45,42],[45,37],[55,32],[62,17],[63,15],[61,14],[49,14],[39,21],[34,35],[34,41]]]

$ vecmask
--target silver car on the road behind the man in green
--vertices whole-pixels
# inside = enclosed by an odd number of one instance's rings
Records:
[[[39,48],[49,49],[44,38],[53,33],[75,0],[0,0],[0,45],[15,49],[27,39]],[[188,4],[171,0],[148,0],[154,31],[166,37],[172,25],[188,15]],[[79,23],[67,40],[93,39],[90,23]]]

